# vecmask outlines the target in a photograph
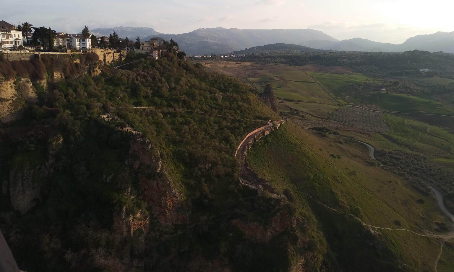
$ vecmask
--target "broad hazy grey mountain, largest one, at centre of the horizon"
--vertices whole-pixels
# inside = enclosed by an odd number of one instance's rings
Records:
[[[197,29],[184,34],[152,35],[175,40],[187,54],[229,53],[263,44],[301,44],[309,40],[336,41],[313,29]]]

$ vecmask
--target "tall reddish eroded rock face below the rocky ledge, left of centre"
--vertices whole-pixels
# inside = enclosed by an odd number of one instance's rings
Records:
[[[183,223],[187,220],[178,190],[163,173],[162,160],[151,145],[146,141],[133,141],[127,164],[138,175],[142,199],[150,204],[160,223]]]

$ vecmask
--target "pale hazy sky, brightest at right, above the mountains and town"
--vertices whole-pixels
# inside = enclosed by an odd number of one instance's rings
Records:
[[[336,39],[402,43],[454,31],[453,0],[21,0],[6,1],[0,19],[57,31],[152,27],[162,33],[198,28],[311,28]]]

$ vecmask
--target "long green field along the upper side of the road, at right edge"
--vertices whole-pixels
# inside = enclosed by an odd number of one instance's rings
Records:
[[[434,113],[453,115],[454,108],[443,103],[398,93],[363,93],[350,98],[351,102],[359,104],[375,104],[380,109],[405,113]]]

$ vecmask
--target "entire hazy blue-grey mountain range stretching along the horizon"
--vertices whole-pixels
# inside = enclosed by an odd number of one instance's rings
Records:
[[[119,37],[135,40],[148,40],[162,37],[175,40],[188,55],[229,53],[245,48],[266,44],[297,44],[313,49],[365,52],[402,52],[409,50],[443,51],[454,53],[454,31],[418,35],[407,39],[403,44],[386,44],[369,39],[337,40],[328,34],[314,29],[196,29],[183,34],[163,34],[152,28],[115,27],[92,29],[96,36],[109,36],[116,32]]]

